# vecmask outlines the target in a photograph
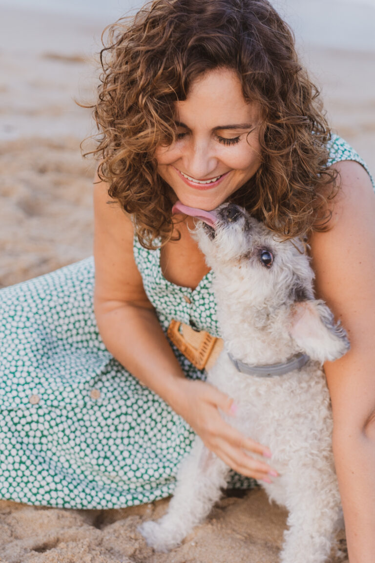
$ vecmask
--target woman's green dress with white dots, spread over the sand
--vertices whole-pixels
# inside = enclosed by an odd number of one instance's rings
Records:
[[[357,160],[339,137],[328,164]],[[160,251],[134,240],[144,288],[171,319],[220,336],[209,272],[191,291],[168,282]],[[66,508],[119,508],[173,493],[194,434],[103,345],[92,258],[0,291],[0,498]],[[177,350],[189,378],[204,374]],[[230,486],[254,481],[232,473]]]

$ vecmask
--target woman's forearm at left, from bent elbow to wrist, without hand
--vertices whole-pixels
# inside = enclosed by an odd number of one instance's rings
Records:
[[[176,409],[186,381],[153,309],[127,303],[96,305],[107,350],[141,383]]]

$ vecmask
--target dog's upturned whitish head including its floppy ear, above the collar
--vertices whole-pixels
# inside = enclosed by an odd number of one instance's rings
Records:
[[[345,331],[324,302],[314,298],[314,272],[302,242],[282,240],[232,203],[220,205],[214,216],[212,226],[198,224],[196,236],[228,310],[239,305],[244,321],[248,311],[255,323],[272,323],[283,309],[283,330],[301,351],[322,362],[345,354]]]

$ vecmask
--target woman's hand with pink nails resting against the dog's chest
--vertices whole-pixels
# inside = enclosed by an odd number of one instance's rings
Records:
[[[214,452],[234,471],[272,482],[278,473],[267,463],[249,455],[249,452],[271,457],[268,448],[243,435],[224,421],[220,410],[236,416],[233,399],[209,383],[198,379],[179,381],[179,393],[172,408],[180,414],[201,437],[206,448]]]

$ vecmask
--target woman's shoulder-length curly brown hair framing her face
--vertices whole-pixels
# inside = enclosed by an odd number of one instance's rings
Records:
[[[337,184],[327,169],[331,132],[293,33],[267,0],[154,0],[105,32],[92,152],[144,247],[173,231],[155,148],[177,138],[174,102],[218,67],[234,69],[245,100],[261,107],[261,164],[231,200],[285,238],[326,228],[324,186]]]

